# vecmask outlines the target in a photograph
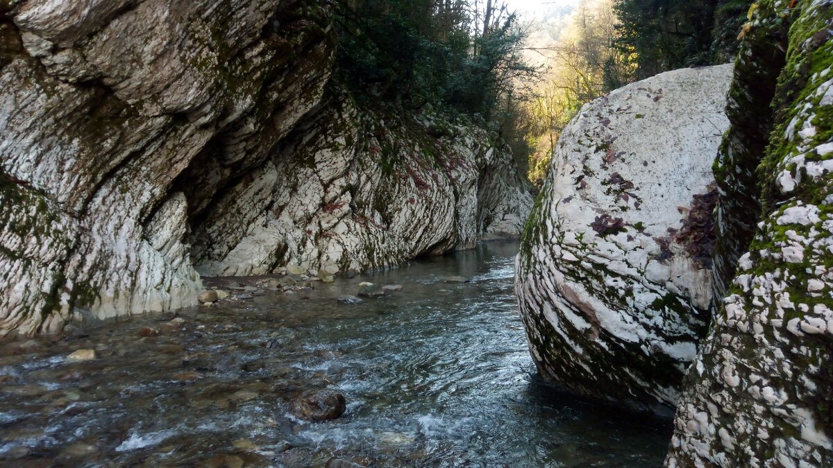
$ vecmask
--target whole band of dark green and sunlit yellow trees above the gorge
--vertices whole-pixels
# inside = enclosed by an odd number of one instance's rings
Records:
[[[335,2],[337,70],[353,96],[465,115],[498,132],[536,183],[586,102],[660,72],[730,61],[750,4],[580,0],[536,24],[503,0]],[[546,41],[530,41],[541,29]]]

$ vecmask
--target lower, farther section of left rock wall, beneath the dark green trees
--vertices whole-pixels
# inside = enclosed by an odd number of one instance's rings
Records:
[[[522,186],[511,156],[476,127],[333,97],[212,202],[192,235],[197,270],[242,276],[292,263],[332,274],[517,236],[532,203]]]

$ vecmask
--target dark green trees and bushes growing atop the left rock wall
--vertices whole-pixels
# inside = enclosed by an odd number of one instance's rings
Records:
[[[506,8],[491,7],[481,18],[464,0],[343,0],[342,81],[359,98],[431,103],[493,120],[513,81],[535,72],[521,60],[516,17],[498,13]]]

